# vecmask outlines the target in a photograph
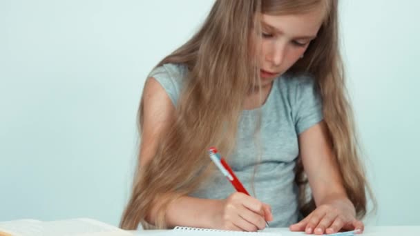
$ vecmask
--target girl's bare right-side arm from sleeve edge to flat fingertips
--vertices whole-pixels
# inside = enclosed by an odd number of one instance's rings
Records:
[[[315,234],[336,233],[341,228],[363,230],[363,223],[356,220],[356,210],[345,193],[325,121],[301,133],[299,146],[317,208],[301,222],[292,225],[291,230]]]

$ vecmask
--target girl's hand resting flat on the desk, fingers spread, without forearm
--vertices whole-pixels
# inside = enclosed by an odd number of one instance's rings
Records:
[[[305,231],[307,234],[323,235],[337,233],[338,230],[359,230],[363,232],[363,222],[356,219],[354,212],[340,206],[325,204],[318,206],[305,219],[289,228],[292,231]]]

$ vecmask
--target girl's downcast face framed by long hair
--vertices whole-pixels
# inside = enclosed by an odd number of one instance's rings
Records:
[[[323,11],[305,14],[262,14],[262,40],[258,45],[261,85],[271,83],[304,56],[323,21]]]

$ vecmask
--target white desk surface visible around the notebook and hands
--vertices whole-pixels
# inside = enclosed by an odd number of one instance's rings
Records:
[[[171,230],[139,230],[135,235],[162,235]],[[278,232],[282,236],[306,235],[303,232],[290,232],[289,228],[269,228],[264,232]],[[169,234],[168,234],[169,235]],[[420,226],[372,226],[366,227],[361,236],[420,236]]]

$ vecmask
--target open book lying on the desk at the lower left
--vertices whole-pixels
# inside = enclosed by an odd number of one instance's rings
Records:
[[[35,219],[19,219],[0,222],[0,236],[133,236],[125,230],[95,219],[64,219],[41,222]]]

